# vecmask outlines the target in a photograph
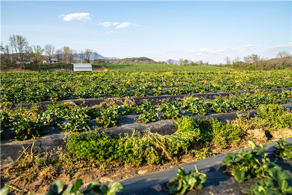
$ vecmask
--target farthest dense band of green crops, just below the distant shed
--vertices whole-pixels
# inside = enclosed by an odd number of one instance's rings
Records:
[[[292,87],[292,72],[3,73],[1,106],[68,98],[146,97]]]

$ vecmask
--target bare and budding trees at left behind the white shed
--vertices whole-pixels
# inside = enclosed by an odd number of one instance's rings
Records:
[[[77,51],[64,46],[60,49],[56,49],[52,44],[46,44],[44,47],[40,45],[29,45],[29,42],[24,36],[10,35],[8,44],[0,45],[1,51],[1,64],[12,64],[13,67],[25,70],[25,64],[30,62],[38,65],[38,71],[40,72],[40,65],[44,60],[49,60],[51,65],[52,59],[56,59],[61,64],[61,70],[69,69],[69,64],[73,62],[90,62],[90,57],[93,55],[97,57],[98,53],[93,52],[91,49],[85,51]]]

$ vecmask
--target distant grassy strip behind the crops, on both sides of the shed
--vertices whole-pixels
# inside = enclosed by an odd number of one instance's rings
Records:
[[[106,64],[103,65],[108,71],[183,71],[183,70],[201,70],[201,71],[220,71],[228,70],[216,66],[181,66],[181,65],[163,65],[163,64]],[[16,68],[17,65],[1,65],[1,72],[38,72],[37,64],[25,64],[25,71]],[[63,71],[65,65],[63,64]],[[104,71],[102,65],[92,65],[94,71]],[[42,64],[41,71],[61,71],[61,64]],[[69,65],[69,71],[72,65]]]

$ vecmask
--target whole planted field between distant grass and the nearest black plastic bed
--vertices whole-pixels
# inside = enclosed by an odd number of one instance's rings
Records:
[[[292,137],[291,87],[291,71],[2,73],[1,148],[21,153],[1,150],[1,183],[44,194],[56,179],[107,183],[245,148],[248,137]],[[75,103],[85,98],[101,101]],[[156,133],[167,120],[172,133]],[[114,133],[125,124],[151,128]],[[37,140],[58,135],[66,138],[40,152]],[[2,155],[15,162],[3,167]]]

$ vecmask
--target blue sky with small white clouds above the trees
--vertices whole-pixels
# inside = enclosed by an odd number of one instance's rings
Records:
[[[292,1],[3,1],[1,41],[224,63],[292,52]]]

